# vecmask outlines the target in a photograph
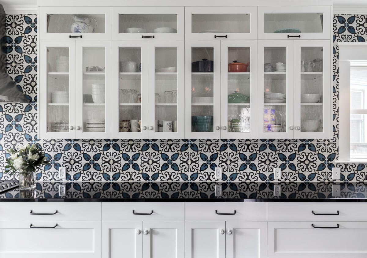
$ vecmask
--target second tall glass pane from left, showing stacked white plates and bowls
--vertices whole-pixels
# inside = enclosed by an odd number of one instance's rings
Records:
[[[105,132],[106,130],[105,55],[104,47],[83,47],[84,132]]]

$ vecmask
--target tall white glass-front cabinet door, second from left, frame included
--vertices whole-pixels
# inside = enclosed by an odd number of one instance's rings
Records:
[[[76,42],[76,137],[112,136],[112,51],[106,40]]]

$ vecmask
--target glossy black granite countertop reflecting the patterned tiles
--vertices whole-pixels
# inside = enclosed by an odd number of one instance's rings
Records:
[[[65,196],[59,186],[66,186]],[[215,188],[222,187],[216,196]],[[275,187],[280,187],[276,196]],[[33,191],[12,189],[2,201],[223,201],[223,202],[367,202],[365,183],[319,182],[39,182]]]

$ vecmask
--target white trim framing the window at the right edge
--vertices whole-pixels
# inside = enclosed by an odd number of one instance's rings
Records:
[[[337,163],[367,163],[350,158],[350,61],[367,60],[367,43],[339,42],[339,159]]]

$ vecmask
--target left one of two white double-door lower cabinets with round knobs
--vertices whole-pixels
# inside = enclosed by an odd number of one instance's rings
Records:
[[[120,257],[183,258],[183,221],[102,222],[102,258]]]

